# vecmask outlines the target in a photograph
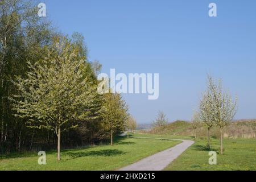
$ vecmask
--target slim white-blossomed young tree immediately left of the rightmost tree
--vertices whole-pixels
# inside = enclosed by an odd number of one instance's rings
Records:
[[[199,116],[201,122],[204,123],[204,126],[207,128],[208,131],[208,142],[207,142],[207,148],[210,148],[210,129],[212,129],[214,125],[214,117],[213,117],[213,98],[212,95],[208,90],[203,94],[203,97],[201,98],[200,101],[200,106],[199,106]]]

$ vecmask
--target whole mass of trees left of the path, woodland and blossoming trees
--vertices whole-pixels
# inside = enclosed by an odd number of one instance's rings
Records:
[[[0,2],[0,152],[57,144],[60,160],[61,144],[113,144],[125,101],[97,92],[101,64],[88,61],[83,36],[61,35],[37,12],[31,1]]]

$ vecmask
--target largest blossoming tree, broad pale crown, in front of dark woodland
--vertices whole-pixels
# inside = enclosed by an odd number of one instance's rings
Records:
[[[36,129],[55,131],[57,160],[60,160],[61,133],[77,126],[76,121],[93,119],[96,86],[83,75],[85,61],[79,49],[67,39],[59,39],[47,50],[47,57],[29,64],[27,78],[18,77],[13,96],[15,116],[28,118]]]

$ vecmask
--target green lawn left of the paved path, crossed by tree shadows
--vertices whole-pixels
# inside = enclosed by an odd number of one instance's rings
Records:
[[[46,152],[46,165],[39,165],[36,152],[0,156],[0,170],[115,170],[156,152],[175,146],[178,141],[117,138],[114,146],[102,145],[63,150],[62,160],[56,152]]]

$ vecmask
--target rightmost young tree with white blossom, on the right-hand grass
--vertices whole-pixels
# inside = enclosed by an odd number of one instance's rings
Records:
[[[213,121],[220,128],[221,154],[223,154],[222,129],[232,122],[237,111],[237,98],[232,99],[228,92],[222,89],[222,81],[214,82],[213,78],[208,76],[209,92],[211,96],[211,107],[213,112]]]

